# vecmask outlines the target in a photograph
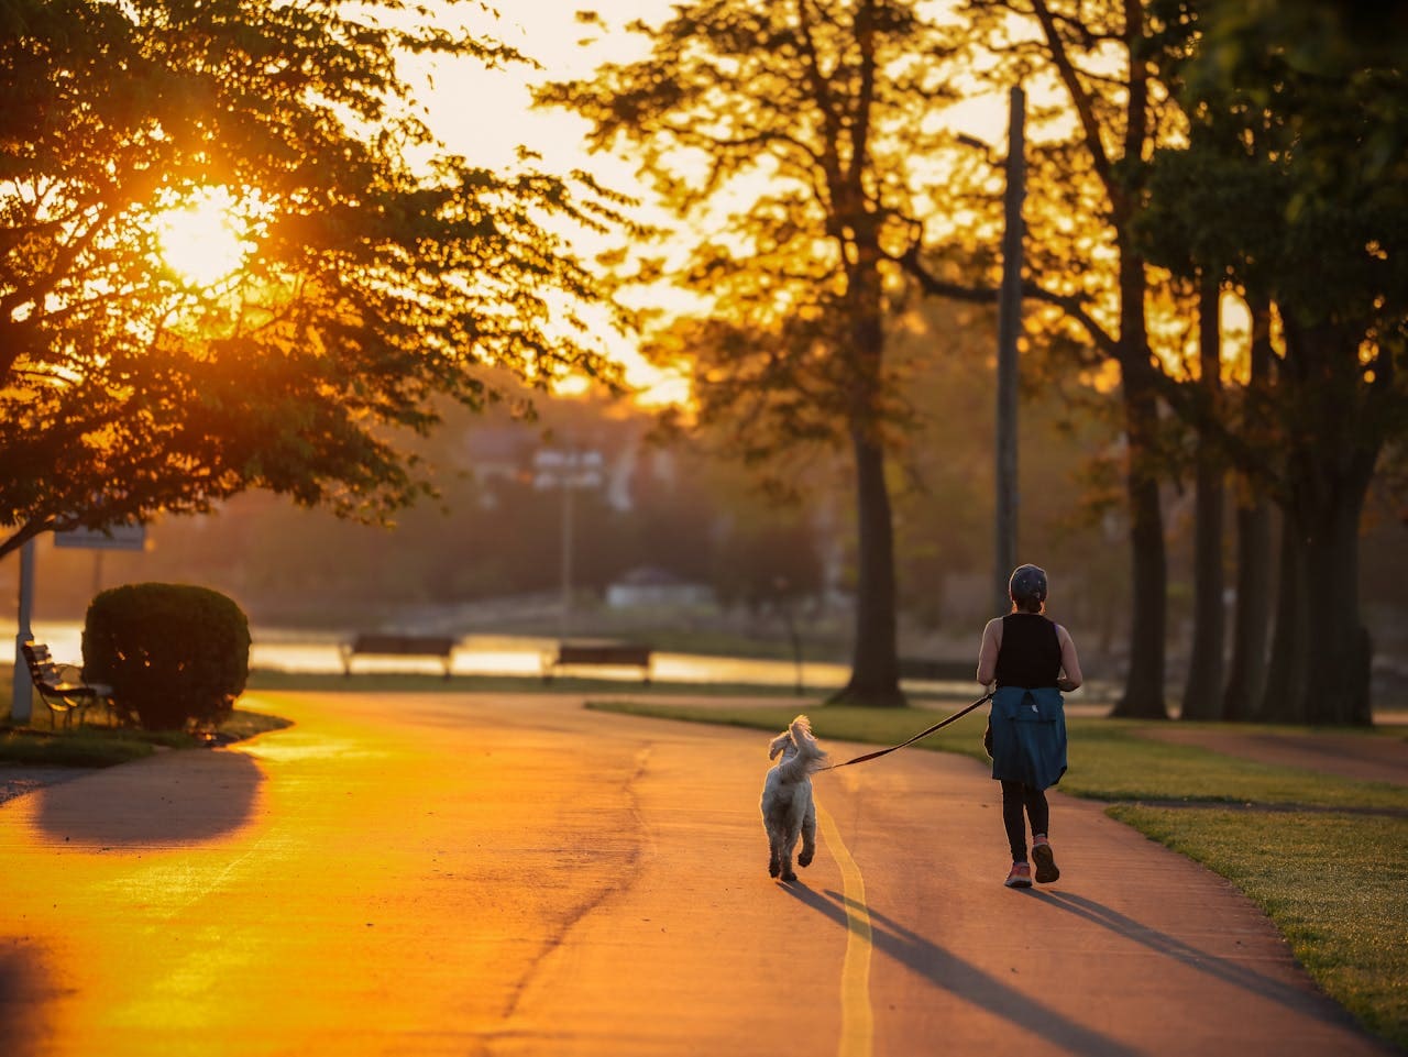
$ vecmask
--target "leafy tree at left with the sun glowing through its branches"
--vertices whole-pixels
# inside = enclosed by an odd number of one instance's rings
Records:
[[[521,56],[375,17],[6,4],[0,555],[246,488],[382,518],[428,490],[398,438],[438,421],[432,397],[482,407],[498,369],[612,377],[584,325],[556,327],[600,290],[549,224],[618,203],[529,156],[496,173],[446,153],[400,59]],[[213,193],[245,253],[199,286],[161,218]]]

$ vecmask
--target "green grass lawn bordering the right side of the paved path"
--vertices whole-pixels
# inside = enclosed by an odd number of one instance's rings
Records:
[[[797,712],[794,705],[587,707],[767,732],[783,729]],[[956,708],[825,705],[808,715],[822,739],[898,745]],[[986,761],[986,714],[979,708],[903,752],[955,752]],[[1112,818],[1232,881],[1266,911],[1328,995],[1367,1030],[1408,1050],[1408,788],[1140,738],[1149,726],[1069,718],[1071,770],[1062,792],[1108,801]],[[1297,868],[1287,870],[1288,861]]]

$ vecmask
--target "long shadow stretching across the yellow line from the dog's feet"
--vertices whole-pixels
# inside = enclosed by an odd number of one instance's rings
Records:
[[[910,932],[883,913],[848,899],[839,892],[825,895],[811,891],[800,881],[781,885],[783,891],[800,899],[842,928],[849,928],[846,908],[852,906],[870,918],[870,937],[876,950],[901,966],[926,977],[936,987],[957,995],[974,1006],[987,1009],[1014,1025],[1060,1046],[1079,1057],[1136,1057],[1138,1050],[1086,1027],[1059,1009],[1043,1005],[1032,995],[1022,994],[997,977],[972,966],[963,958],[936,946],[924,936]],[[829,897],[829,898],[828,898]]]

